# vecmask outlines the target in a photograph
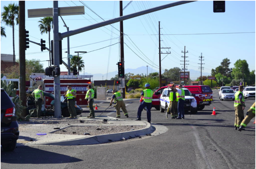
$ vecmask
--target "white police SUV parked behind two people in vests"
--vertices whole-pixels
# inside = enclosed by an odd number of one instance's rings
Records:
[[[182,88],[185,91],[185,103],[184,103],[184,110],[190,111],[191,113],[197,113],[197,103],[195,97],[192,96],[189,89]],[[166,112],[170,105],[170,88],[166,88],[163,90],[160,96],[160,112]],[[169,109],[169,113],[171,109]]]

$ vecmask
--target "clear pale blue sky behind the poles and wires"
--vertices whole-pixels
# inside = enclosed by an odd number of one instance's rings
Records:
[[[97,13],[104,20],[119,17],[119,1],[82,1]],[[125,7],[130,1],[123,1]],[[132,1],[123,10],[123,15],[138,12],[148,8],[172,3],[175,1]],[[1,1],[1,12],[3,6],[18,1]],[[59,7],[83,6],[79,1],[59,1]],[[202,66],[203,72],[211,73],[212,68],[220,65],[223,58],[229,58],[230,67],[238,59],[246,59],[250,71],[255,70],[255,1],[226,1],[224,13],[213,12],[213,1],[197,1],[176,7],[163,9],[144,16],[125,20],[124,25],[124,61],[125,68],[135,69],[140,66],[149,66],[148,72],[153,72],[150,67],[159,69],[158,54],[158,21],[161,29],[161,48],[171,47],[169,54],[162,54],[161,64],[163,69],[180,67],[181,56],[184,56],[184,46],[186,46],[186,60],[189,60],[188,69],[199,70],[199,56],[204,57]],[[27,9],[52,8],[53,1],[26,1],[25,2],[25,25],[29,31],[29,40],[40,43],[40,39],[46,40],[48,47],[48,34],[41,35],[38,21],[40,18],[27,18]],[[88,25],[102,22],[97,15],[85,7],[85,15],[63,16],[66,25],[70,30],[85,27]],[[63,22],[59,17],[59,32],[66,32]],[[13,54],[12,28],[1,23],[5,27],[7,37],[1,37],[1,53]],[[116,29],[120,30],[119,23],[115,23]],[[75,51],[87,51],[81,55],[85,62],[85,72],[90,74],[105,74],[117,71],[116,63],[119,61],[119,31],[112,26],[105,26],[95,30],[87,31],[70,37],[70,53],[75,55]],[[15,25],[15,54],[19,56],[18,25]],[[229,34],[208,34],[208,33],[229,33]],[[176,34],[176,35],[166,35]],[[194,34],[194,35],[177,35]],[[196,34],[196,35],[195,35]],[[51,31],[51,40],[53,31]],[[111,40],[110,40],[111,39]],[[103,42],[101,42],[103,41]],[[117,43],[117,44],[116,44]],[[113,45],[116,44],[116,45]],[[110,46],[97,50],[106,46]],[[81,46],[81,47],[79,47]],[[67,51],[67,38],[62,40],[62,56]],[[94,51],[96,50],[96,51]],[[94,52],[90,52],[94,51]],[[163,53],[166,51],[161,50]],[[41,52],[40,46],[30,43],[26,50],[26,59],[40,59],[44,67],[48,66],[49,54]],[[67,59],[63,59],[67,63]],[[153,63],[152,63],[153,62]],[[153,67],[154,66],[154,67]],[[67,71],[61,65],[61,71]],[[83,72],[82,72],[83,73]],[[80,74],[82,74],[80,73]],[[125,72],[128,73],[128,72]],[[141,73],[146,73],[141,72]],[[141,74],[140,73],[140,74]],[[162,71],[163,73],[163,71]],[[198,76],[200,76],[198,74]],[[109,80],[111,77],[107,77]],[[196,77],[191,77],[196,78]]]

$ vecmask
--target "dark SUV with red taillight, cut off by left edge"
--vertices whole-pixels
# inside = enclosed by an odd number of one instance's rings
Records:
[[[4,151],[15,149],[20,134],[14,107],[11,98],[1,89],[1,145]]]

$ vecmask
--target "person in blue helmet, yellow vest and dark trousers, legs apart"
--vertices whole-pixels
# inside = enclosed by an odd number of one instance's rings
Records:
[[[149,83],[146,83],[144,87],[146,87],[146,89],[141,92],[141,96],[143,96],[143,101],[138,108],[137,119],[135,120],[141,120],[141,112],[144,109],[144,107],[146,107],[147,122],[151,123],[151,107],[154,92],[150,89]]]

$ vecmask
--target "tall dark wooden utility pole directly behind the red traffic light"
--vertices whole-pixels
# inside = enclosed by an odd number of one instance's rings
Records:
[[[123,1],[119,1],[120,17],[123,16]],[[120,62],[124,67],[124,48],[123,48],[123,21],[120,21]],[[123,72],[124,74],[124,72]],[[122,78],[121,84],[125,82],[125,79]],[[124,83],[125,85],[125,83]],[[123,98],[125,98],[125,88],[122,88]]]

